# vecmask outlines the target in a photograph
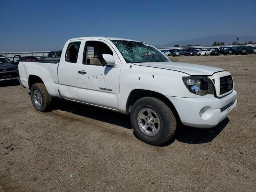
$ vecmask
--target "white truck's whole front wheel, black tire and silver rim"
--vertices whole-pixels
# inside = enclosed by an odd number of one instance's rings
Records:
[[[135,102],[131,111],[134,134],[142,141],[164,144],[172,138],[177,122],[172,110],[161,100],[144,97]]]

